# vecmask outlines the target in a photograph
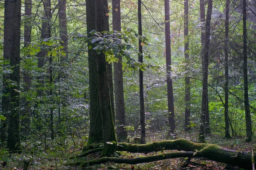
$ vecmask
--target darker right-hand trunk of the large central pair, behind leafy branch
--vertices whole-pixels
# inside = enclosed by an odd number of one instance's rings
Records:
[[[95,21],[96,31],[109,31],[108,25],[108,1],[107,0],[95,0]],[[97,65],[97,82],[99,90],[99,103],[100,112],[102,116],[102,132],[104,140],[104,149],[101,156],[108,156],[115,150],[111,144],[106,142],[116,142],[116,133],[113,122],[113,112],[111,106],[110,84],[107,71],[107,63],[105,54],[97,54],[95,56]],[[116,144],[114,144],[116,145]]]

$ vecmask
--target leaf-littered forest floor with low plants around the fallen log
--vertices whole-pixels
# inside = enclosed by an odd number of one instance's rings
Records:
[[[147,135],[147,142],[154,142],[163,139],[174,139],[174,136],[163,136],[163,133],[150,133]],[[181,133],[175,138],[185,138],[196,142],[196,133]],[[233,136],[232,139],[223,139],[223,136],[214,134],[207,135],[207,143],[218,144],[221,147],[251,152],[256,146],[256,139],[253,142],[245,143],[244,137]],[[66,140],[67,142],[67,140]],[[70,143],[70,144],[68,144]],[[0,149],[0,170],[22,170],[24,160],[28,160],[29,170],[240,170],[239,167],[231,167],[216,161],[207,159],[191,159],[186,167],[182,165],[186,162],[186,158],[166,159],[162,161],[154,161],[142,164],[116,164],[106,163],[93,165],[88,167],[67,166],[68,162],[78,160],[98,159],[100,153],[91,154],[87,157],[69,159],[71,156],[77,156],[81,153],[84,146],[84,140],[80,139],[75,142],[67,142],[62,145],[59,142],[45,144],[43,142],[33,142],[28,145],[21,153],[8,153],[6,150]],[[26,145],[23,143],[23,145]],[[174,150],[164,151],[164,153],[175,152]],[[158,152],[161,153],[161,152]],[[148,153],[155,155],[158,153]],[[120,157],[135,158],[145,156],[141,153],[121,152]],[[242,170],[242,169],[241,169]]]

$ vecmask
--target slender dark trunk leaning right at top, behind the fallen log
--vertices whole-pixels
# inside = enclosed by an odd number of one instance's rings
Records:
[[[207,112],[207,84],[208,84],[208,65],[209,65],[209,42],[210,42],[210,28],[211,28],[211,17],[212,17],[212,0],[208,1],[207,18],[205,23],[205,45],[204,45],[204,57],[202,58],[203,66],[203,93],[202,93],[202,108],[200,116],[200,126],[198,134],[198,142],[205,142],[205,119]]]

